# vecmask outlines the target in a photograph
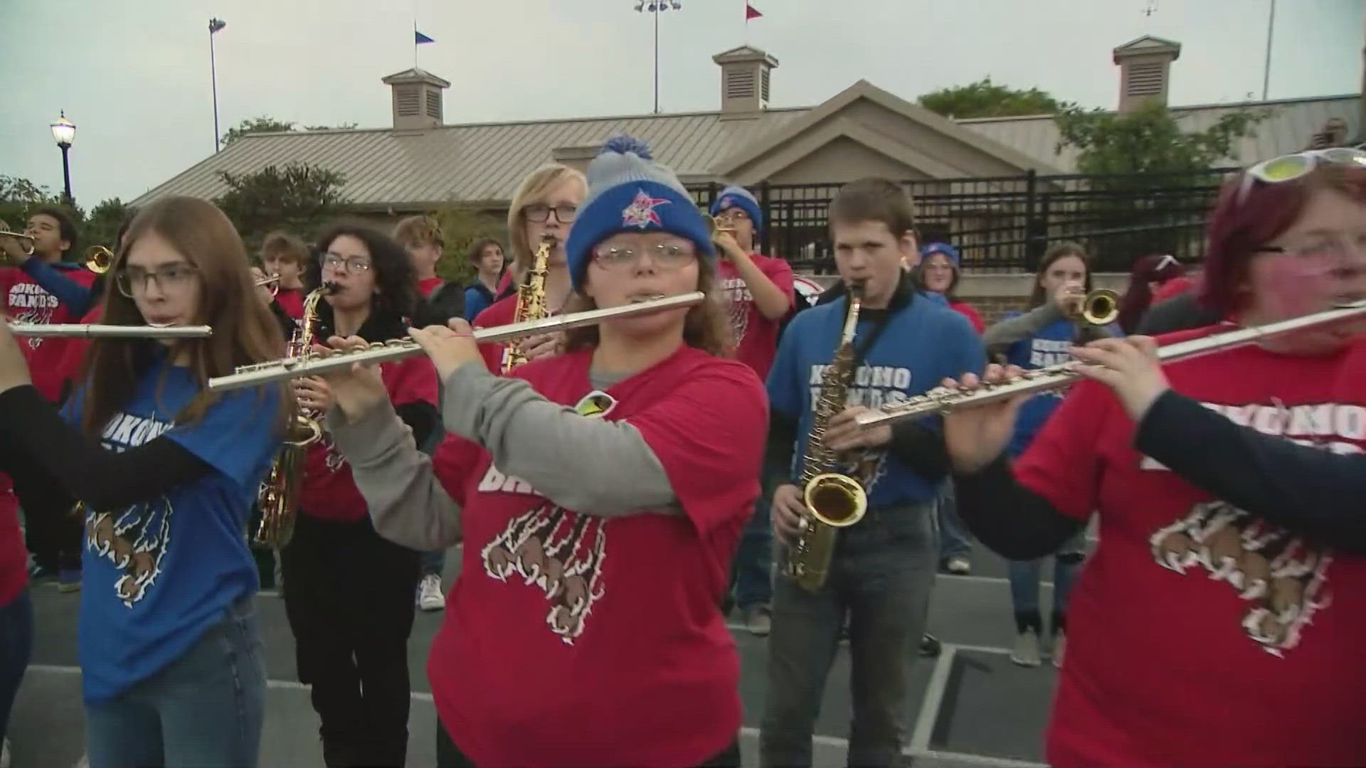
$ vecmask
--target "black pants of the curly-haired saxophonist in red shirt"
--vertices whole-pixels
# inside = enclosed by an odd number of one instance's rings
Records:
[[[369,518],[301,514],[280,555],[299,682],[313,686],[324,763],[402,767],[418,553],[380,538]]]

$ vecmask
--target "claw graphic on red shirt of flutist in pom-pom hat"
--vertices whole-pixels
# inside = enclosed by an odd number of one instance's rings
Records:
[[[602,519],[545,503],[508,521],[479,552],[484,573],[504,584],[522,577],[550,603],[545,623],[574,645],[602,597],[607,527]]]

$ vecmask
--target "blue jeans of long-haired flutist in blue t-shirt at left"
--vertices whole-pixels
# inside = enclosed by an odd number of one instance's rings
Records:
[[[182,657],[107,701],[86,702],[90,768],[254,768],[265,722],[265,663],[250,597]]]

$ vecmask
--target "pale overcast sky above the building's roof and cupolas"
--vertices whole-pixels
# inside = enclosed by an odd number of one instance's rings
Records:
[[[1116,104],[1111,49],[1182,42],[1173,104],[1262,92],[1270,0],[680,0],[660,20],[660,107],[714,109],[710,57],[749,42],[780,61],[775,107],[859,78],[915,96],[984,75],[1087,107]],[[1143,14],[1149,4],[1152,16]],[[223,130],[257,115],[389,123],[380,78],[413,66],[451,81],[448,123],[647,113],[653,26],[635,0],[0,0],[0,174],[61,189],[48,124],[76,124],[71,180],[87,209],[142,194],[213,152],[208,19]],[[1280,0],[1270,97],[1356,93],[1366,0]],[[45,41],[42,45],[34,41]]]

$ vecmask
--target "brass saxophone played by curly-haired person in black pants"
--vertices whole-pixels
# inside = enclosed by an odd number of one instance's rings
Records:
[[[318,318],[318,302],[336,290],[333,283],[322,283],[303,299],[303,314],[299,328],[290,338],[285,359],[306,358],[313,348],[314,325]],[[295,414],[284,436],[284,445],[270,463],[270,474],[261,485],[257,503],[261,506],[261,522],[257,525],[254,544],[279,549],[290,543],[294,534],[294,517],[299,500],[299,482],[303,480],[303,456],[309,445],[322,439],[322,425],[318,415],[302,407]]]

